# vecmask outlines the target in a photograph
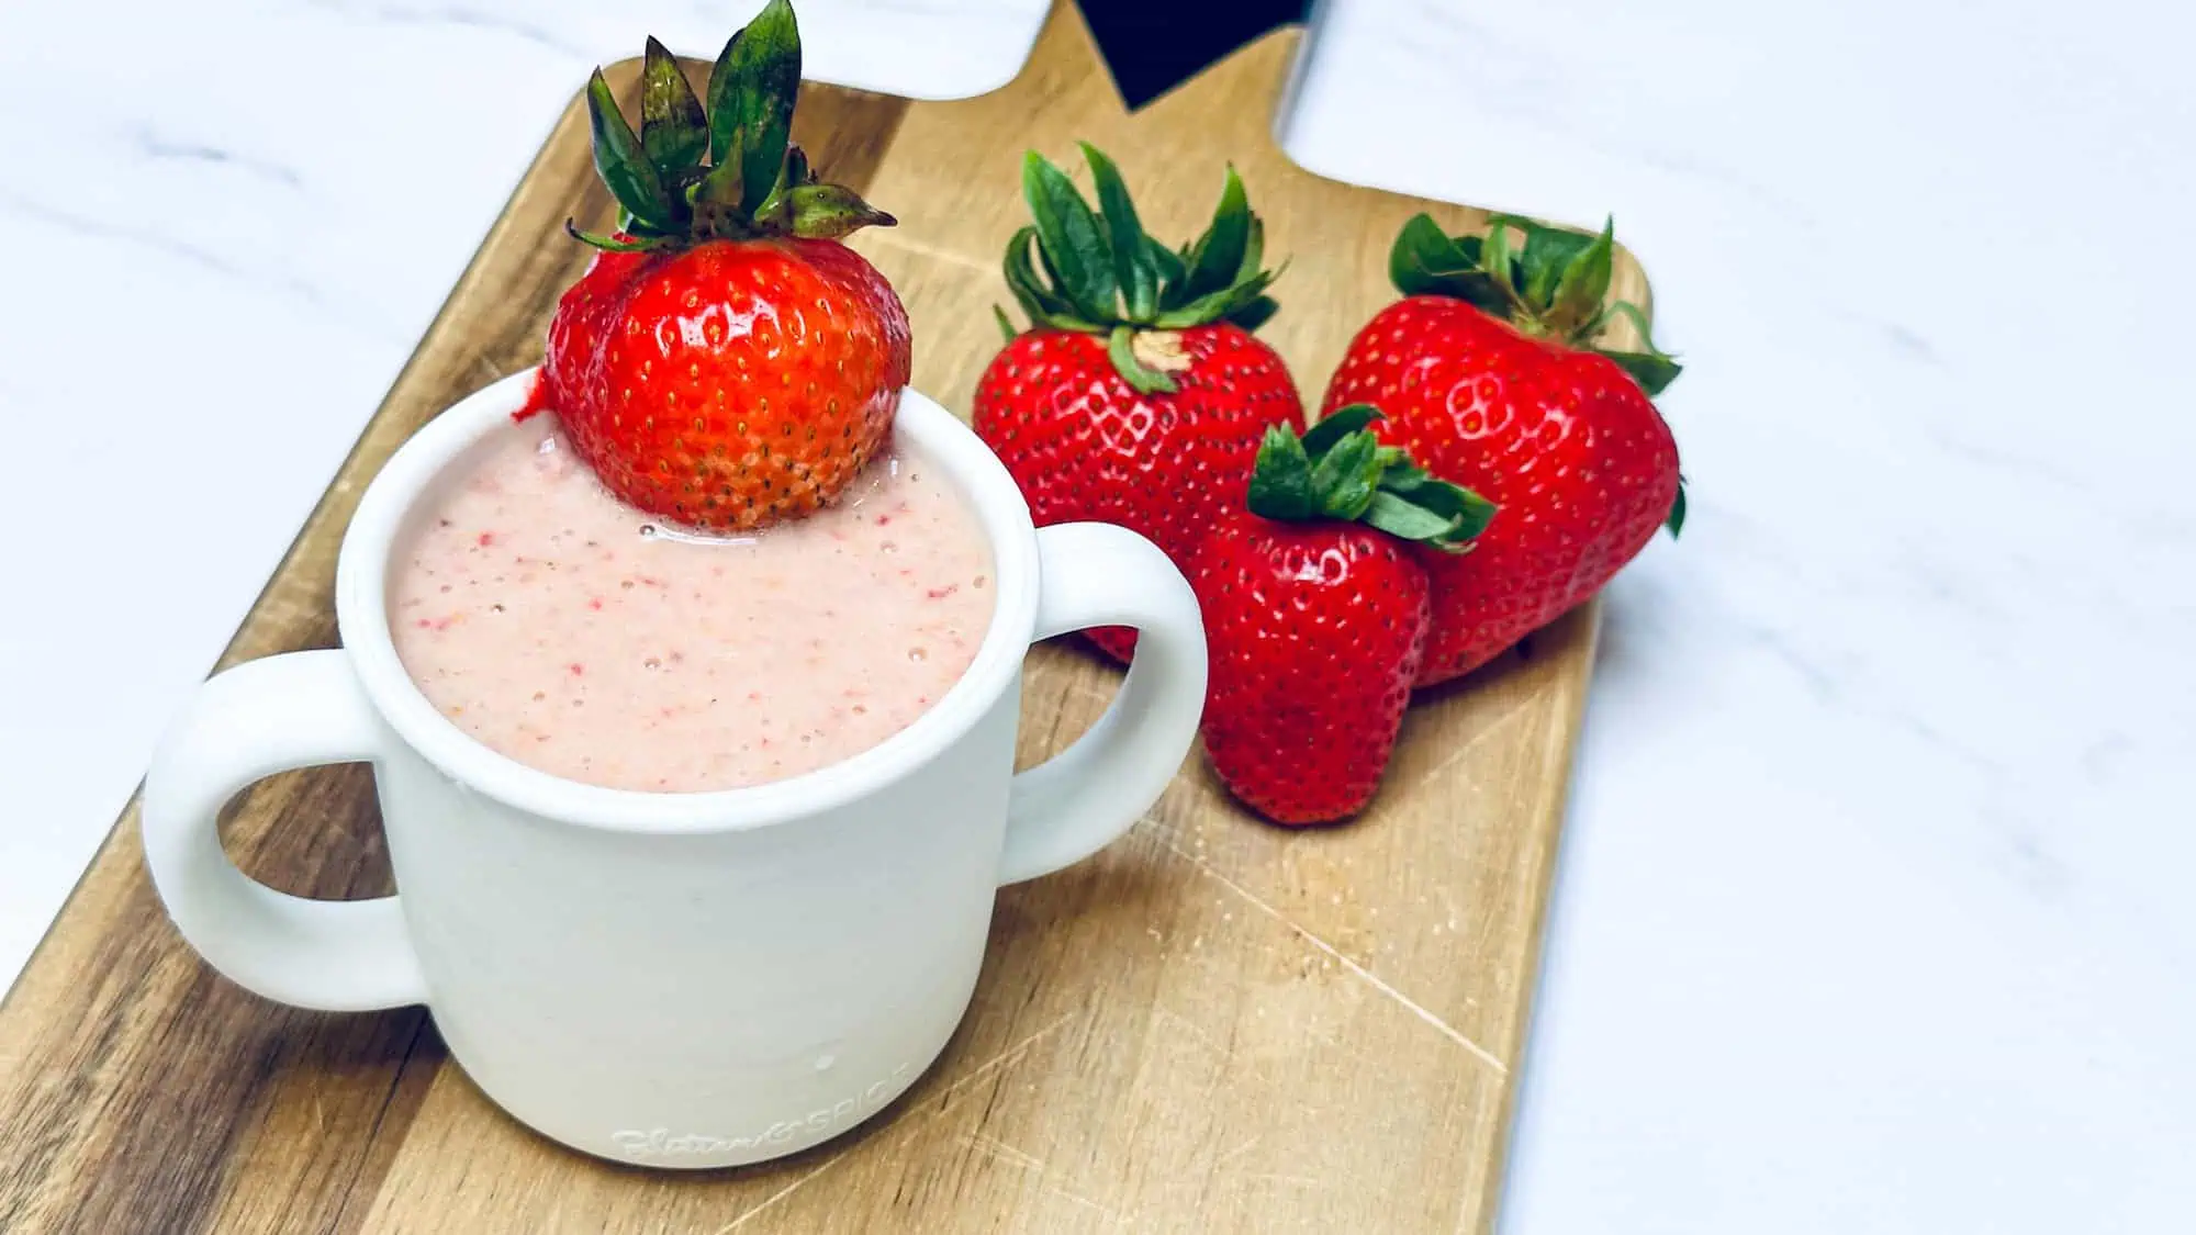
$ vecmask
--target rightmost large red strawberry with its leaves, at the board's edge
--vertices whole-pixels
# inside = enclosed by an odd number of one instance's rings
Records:
[[[1524,233],[1515,253],[1509,231]],[[1651,396],[1678,365],[1596,347],[1614,240],[1500,215],[1449,240],[1427,215],[1403,226],[1390,272],[1405,299],[1357,332],[1326,409],[1370,402],[1377,433],[1502,514],[1471,554],[1421,554],[1434,633],[1419,686],[1469,672],[1594,596],[1656,527],[1684,521],[1678,444]]]

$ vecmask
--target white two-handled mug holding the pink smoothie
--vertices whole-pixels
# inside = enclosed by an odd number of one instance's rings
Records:
[[[716,793],[578,785],[444,719],[389,637],[391,545],[507,433],[531,374],[426,424],[367,488],[336,565],[340,650],[206,681],[145,780],[145,859],[235,982],[327,1011],[428,1004],[520,1121],[624,1162],[729,1167],[828,1141],[900,1094],[960,1024],[993,892],[1124,833],[1179,769],[1206,692],[1197,600],[1142,536],[1037,530],[1006,468],[916,391],[898,429],[990,536],[997,609],[968,672],[839,765]],[[1015,774],[1032,639],[1138,626],[1105,716]],[[215,813],[261,776],[371,760],[397,894],[255,883]]]

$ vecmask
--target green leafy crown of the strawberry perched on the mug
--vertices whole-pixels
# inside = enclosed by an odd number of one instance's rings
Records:
[[[845,185],[819,180],[791,141],[799,86],[802,35],[786,0],[771,0],[731,35],[709,70],[707,105],[679,59],[648,40],[639,134],[597,68],[586,81],[586,119],[595,174],[617,198],[621,235],[586,233],[569,220],[564,231],[595,248],[652,253],[709,240],[839,240],[892,226],[892,215]]]

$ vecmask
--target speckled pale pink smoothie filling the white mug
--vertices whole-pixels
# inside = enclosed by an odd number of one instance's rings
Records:
[[[861,754],[953,686],[990,626],[984,530],[918,455],[755,536],[665,534],[538,415],[400,547],[389,622],[468,734],[615,789],[733,789]]]

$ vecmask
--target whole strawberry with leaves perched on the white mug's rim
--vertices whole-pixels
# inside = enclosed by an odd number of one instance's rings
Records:
[[[786,0],[736,33],[707,105],[648,40],[641,127],[589,81],[615,235],[564,292],[534,398],[626,503],[744,532],[830,503],[883,446],[909,376],[907,310],[839,244],[892,224],[788,141],[802,44]]]

